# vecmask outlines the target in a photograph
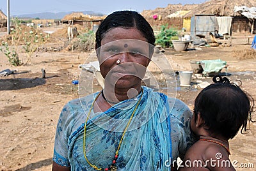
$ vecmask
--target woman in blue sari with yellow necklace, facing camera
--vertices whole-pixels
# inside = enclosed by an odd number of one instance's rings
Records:
[[[152,27],[136,11],[116,11],[96,33],[104,89],[63,107],[52,170],[170,170],[193,144],[191,111],[141,86],[154,52]]]

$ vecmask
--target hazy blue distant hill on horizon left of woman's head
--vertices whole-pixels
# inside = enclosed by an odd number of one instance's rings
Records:
[[[93,15],[93,16],[103,16],[104,14],[94,12],[94,11],[81,11],[84,14]],[[74,11],[70,12],[58,12],[58,13],[51,13],[51,12],[45,12],[45,13],[31,13],[31,14],[24,14],[24,15],[13,15],[12,17],[18,17],[18,18],[39,18],[39,19],[62,19],[65,15],[68,15],[70,13],[74,13]]]

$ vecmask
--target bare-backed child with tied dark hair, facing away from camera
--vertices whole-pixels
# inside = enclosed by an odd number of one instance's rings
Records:
[[[228,78],[216,76],[212,80],[215,84],[196,97],[191,130],[199,140],[186,152],[180,171],[235,170],[228,158],[228,140],[240,128],[241,133],[249,129],[247,121],[252,121],[254,101]]]

